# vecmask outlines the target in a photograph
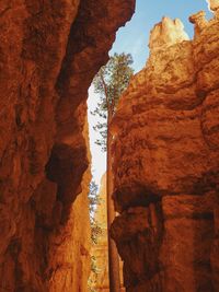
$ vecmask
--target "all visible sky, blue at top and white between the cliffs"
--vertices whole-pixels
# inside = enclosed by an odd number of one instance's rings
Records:
[[[111,50],[113,52],[130,52],[134,58],[134,68],[139,71],[146,63],[148,57],[149,34],[155,23],[160,22],[163,16],[171,19],[181,19],[184,23],[185,31],[193,38],[194,26],[188,22],[188,16],[205,10],[207,17],[210,17],[208,5],[205,0],[137,0],[136,13],[130,22],[117,32],[116,42]],[[93,92],[92,86],[89,91],[89,113],[94,110],[99,96]],[[101,176],[105,172],[105,154],[101,152],[94,141],[97,133],[93,130],[96,124],[96,117],[89,114],[90,125],[90,143],[92,153],[93,177],[99,184]]]

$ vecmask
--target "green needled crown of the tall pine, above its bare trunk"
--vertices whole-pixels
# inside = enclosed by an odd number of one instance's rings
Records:
[[[94,129],[100,132],[101,138],[96,144],[106,151],[107,118],[113,117],[116,106],[123,92],[127,89],[130,78],[134,74],[131,68],[132,57],[130,54],[114,54],[108,62],[103,66],[93,80],[94,92],[100,95],[100,103],[93,115],[99,116]]]

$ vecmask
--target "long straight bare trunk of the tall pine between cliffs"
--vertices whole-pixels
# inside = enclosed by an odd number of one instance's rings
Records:
[[[111,238],[110,229],[115,219],[114,202],[112,199],[113,182],[112,182],[112,155],[111,155],[111,143],[112,136],[110,131],[110,124],[112,119],[112,113],[108,110],[107,117],[107,143],[106,143],[106,197],[107,197],[107,231],[108,231],[108,278],[110,278],[110,291],[120,291],[120,279],[119,279],[119,259],[118,252],[115,242]]]

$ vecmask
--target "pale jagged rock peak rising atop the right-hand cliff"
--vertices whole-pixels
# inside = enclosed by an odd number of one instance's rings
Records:
[[[164,16],[150,33],[149,48],[151,50],[162,49],[188,39],[181,20]]]

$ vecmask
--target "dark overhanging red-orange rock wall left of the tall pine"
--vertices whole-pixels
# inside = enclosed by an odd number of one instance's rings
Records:
[[[0,1],[0,291],[87,291],[87,92],[134,2]]]

